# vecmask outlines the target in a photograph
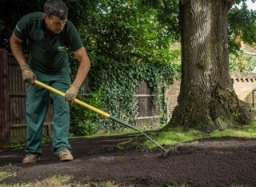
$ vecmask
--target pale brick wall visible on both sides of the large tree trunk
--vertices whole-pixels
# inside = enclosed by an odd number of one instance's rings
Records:
[[[234,91],[238,95],[239,99],[246,101],[251,106],[256,108],[256,74],[249,73],[232,73],[231,78],[234,81]],[[170,119],[172,112],[176,105],[178,105],[177,98],[180,90],[180,80],[174,81],[174,84],[170,85],[165,93],[166,105],[167,105],[167,117]],[[253,103],[253,90],[254,103]]]

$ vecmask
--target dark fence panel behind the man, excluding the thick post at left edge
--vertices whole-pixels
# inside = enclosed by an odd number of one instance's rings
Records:
[[[13,55],[8,55],[9,66],[9,99],[10,99],[10,141],[26,140],[26,83],[22,81],[22,71]],[[49,105],[43,133],[52,134],[53,105]]]

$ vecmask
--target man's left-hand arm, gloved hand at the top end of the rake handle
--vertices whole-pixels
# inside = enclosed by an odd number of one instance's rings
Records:
[[[10,49],[16,58],[18,65],[22,69],[22,79],[24,82],[34,84],[34,79],[36,79],[35,74],[30,70],[29,66],[26,63],[26,58],[21,46],[22,40],[17,38],[13,33],[10,37]]]

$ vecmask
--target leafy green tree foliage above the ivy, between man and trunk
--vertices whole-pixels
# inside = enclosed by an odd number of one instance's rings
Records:
[[[126,63],[159,62],[178,39],[170,31],[170,22],[162,22],[157,10],[138,0],[98,0],[97,6],[91,7],[85,26],[80,28],[90,59],[102,56]],[[178,26],[176,15],[169,18]]]

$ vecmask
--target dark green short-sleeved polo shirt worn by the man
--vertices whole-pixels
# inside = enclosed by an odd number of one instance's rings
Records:
[[[30,67],[42,72],[60,70],[69,66],[68,54],[82,47],[82,40],[72,22],[67,21],[60,34],[50,35],[42,18],[42,12],[27,14],[18,21],[14,34],[29,41]]]

